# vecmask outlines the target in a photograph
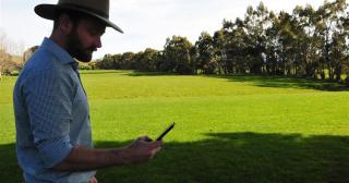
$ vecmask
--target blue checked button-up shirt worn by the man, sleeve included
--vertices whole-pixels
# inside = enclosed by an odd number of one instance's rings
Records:
[[[95,174],[52,170],[74,146],[93,147],[87,97],[76,64],[45,38],[17,78],[13,91],[16,151],[27,183],[87,182]]]

